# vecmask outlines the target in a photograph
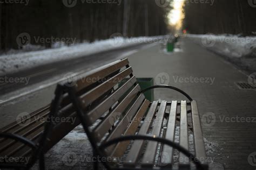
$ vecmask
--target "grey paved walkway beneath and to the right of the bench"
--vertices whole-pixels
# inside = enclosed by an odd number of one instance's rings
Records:
[[[181,42],[179,52],[168,54],[156,45],[132,54],[129,61],[137,77],[176,86],[198,101],[207,155],[217,169],[256,168],[250,165],[250,154],[256,152],[256,91],[240,90],[234,83],[247,82],[244,73],[188,40]],[[155,92],[156,99],[184,99],[164,89]],[[76,161],[67,163],[70,156]],[[90,144],[79,126],[46,154],[46,165],[49,169],[89,169],[90,156]]]

